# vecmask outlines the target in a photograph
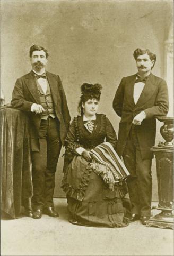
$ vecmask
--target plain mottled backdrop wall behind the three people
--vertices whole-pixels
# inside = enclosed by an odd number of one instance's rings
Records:
[[[164,41],[172,20],[171,1],[1,1],[1,86],[11,101],[17,78],[31,70],[29,48],[39,44],[49,52],[47,70],[59,74],[71,117],[77,115],[80,86],[103,86],[100,113],[118,134],[120,118],[112,100],[122,77],[135,74],[137,47],[156,53],[153,73],[164,78]],[[159,134],[156,143],[163,140]],[[64,149],[60,154],[55,196],[60,188]],[[155,161],[153,200],[158,200]]]

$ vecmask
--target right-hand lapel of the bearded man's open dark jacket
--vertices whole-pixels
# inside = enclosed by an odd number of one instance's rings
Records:
[[[46,71],[46,75],[47,75],[48,83],[51,90],[51,96],[53,98],[54,105],[56,106],[58,102],[61,103],[60,95],[58,93],[58,87],[57,87],[57,76],[47,71]]]

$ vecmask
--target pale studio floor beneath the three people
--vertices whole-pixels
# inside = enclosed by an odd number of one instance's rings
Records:
[[[2,256],[173,255],[171,229],[146,227],[140,221],[118,229],[76,226],[68,222],[66,199],[54,200],[59,218],[1,219]]]

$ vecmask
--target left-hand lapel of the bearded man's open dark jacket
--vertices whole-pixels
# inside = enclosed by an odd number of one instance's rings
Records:
[[[30,91],[34,101],[36,101],[36,103],[40,103],[40,98],[39,98],[39,93],[38,93],[38,87],[37,87],[37,83],[36,83],[36,78],[33,74],[33,72],[31,71],[27,77],[25,77],[26,81],[26,85],[28,87],[28,90]]]

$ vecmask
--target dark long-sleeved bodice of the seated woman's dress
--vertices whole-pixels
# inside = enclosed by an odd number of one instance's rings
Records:
[[[66,150],[76,154],[75,149],[78,147],[90,150],[104,141],[116,148],[117,136],[109,119],[103,114],[97,114],[96,117],[92,133],[84,126],[83,116],[74,117],[66,138]]]

